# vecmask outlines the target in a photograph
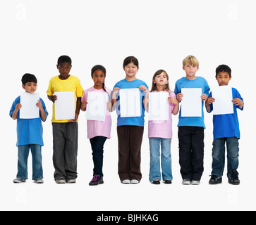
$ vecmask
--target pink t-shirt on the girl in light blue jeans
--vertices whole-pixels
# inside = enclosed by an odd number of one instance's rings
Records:
[[[169,97],[176,98],[176,94],[173,91],[169,91]],[[149,138],[172,139],[173,131],[171,112],[173,111],[174,106],[175,105],[173,103],[169,103],[169,120],[148,121]]]

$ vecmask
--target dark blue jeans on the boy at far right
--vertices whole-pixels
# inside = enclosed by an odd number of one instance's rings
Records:
[[[222,176],[225,167],[225,142],[226,142],[226,155],[228,159],[228,172],[229,177],[232,169],[238,169],[238,152],[239,142],[238,138],[221,138],[213,141],[212,148],[212,175]]]

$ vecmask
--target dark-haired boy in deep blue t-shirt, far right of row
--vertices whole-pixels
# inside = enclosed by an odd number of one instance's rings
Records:
[[[231,68],[227,65],[219,65],[216,69],[216,79],[219,86],[228,85],[231,80]],[[236,109],[243,110],[243,98],[239,92],[232,88],[233,96],[233,114],[214,115],[214,141],[212,148],[212,176],[209,184],[221,184],[225,164],[225,142],[227,147],[228,158],[228,183],[240,184],[238,179],[238,139],[240,139],[240,130],[238,122],[238,114]],[[212,93],[205,102],[205,107],[208,113],[213,110],[212,103],[215,101],[212,98]]]

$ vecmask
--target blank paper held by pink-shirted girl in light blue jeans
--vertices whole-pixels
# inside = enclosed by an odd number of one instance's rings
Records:
[[[169,120],[168,96],[166,91],[150,92],[148,120]]]

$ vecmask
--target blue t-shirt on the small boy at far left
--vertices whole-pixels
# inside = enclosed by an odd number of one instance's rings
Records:
[[[39,98],[46,116],[48,116],[47,108],[45,107],[42,98]],[[13,115],[16,105],[20,103],[20,96],[13,101],[9,115]],[[20,110],[17,115],[17,143],[16,146],[25,146],[36,144],[44,146],[43,142],[43,127],[41,117],[35,119],[20,119]]]

